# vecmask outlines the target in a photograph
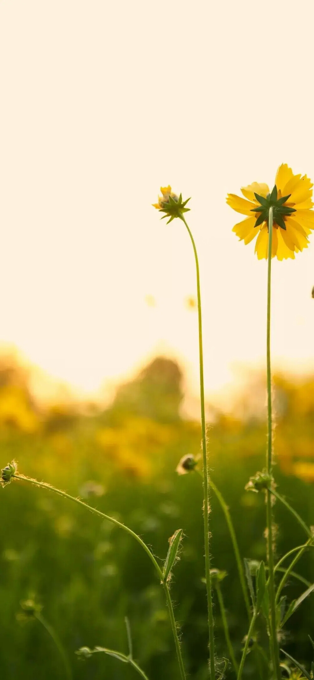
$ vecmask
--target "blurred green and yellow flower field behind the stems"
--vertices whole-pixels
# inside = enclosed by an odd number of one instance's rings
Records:
[[[265,558],[264,497],[245,492],[249,476],[264,466],[266,419],[254,407],[264,395],[256,379],[232,415],[211,408],[209,455],[213,481],[224,495],[243,558]],[[15,458],[19,471],[49,481],[99,510],[117,517],[141,535],[161,560],[168,539],[184,529],[181,560],[171,592],[181,624],[189,677],[207,675],[207,609],[203,561],[200,476],[179,477],[184,454],[200,452],[200,424],[182,420],[183,394],[177,365],[157,359],[128,385],[114,403],[85,412],[63,403],[40,408],[31,396],[28,376],[0,365],[0,462]],[[262,397],[264,398],[264,396]],[[294,383],[275,377],[275,477],[279,491],[314,524],[314,377]],[[302,529],[275,505],[277,557],[304,542]],[[121,530],[51,492],[15,481],[0,491],[0,668],[3,680],[63,678],[54,643],[35,619],[23,621],[20,602],[35,598],[62,641],[75,680],[132,679],[133,668],[99,654],[80,660],[75,650],[101,645],[127,653],[124,617],[133,634],[135,659],[150,680],[177,680],[179,670],[164,592],[141,547]],[[245,607],[224,515],[211,502],[212,565],[226,569],[222,592],[230,636],[239,658],[247,632]],[[314,552],[314,551],[313,551]],[[309,553],[298,572],[313,581]],[[304,590],[290,581],[290,598]],[[220,658],[228,656],[217,600],[215,636]],[[313,636],[313,595],[290,619],[285,649],[301,662],[312,659],[307,634]],[[260,639],[263,642],[264,632]],[[253,654],[245,675],[256,677]],[[231,669],[227,677],[234,677]]]

